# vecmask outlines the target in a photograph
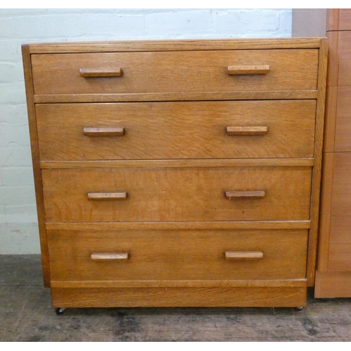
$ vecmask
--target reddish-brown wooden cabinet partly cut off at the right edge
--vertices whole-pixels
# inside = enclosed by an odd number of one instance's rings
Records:
[[[315,296],[347,296],[350,286],[350,86],[351,11],[329,9],[329,79],[321,222]],[[342,153],[340,153],[342,152]],[[345,271],[345,272],[342,272]],[[347,279],[349,282],[347,283]],[[348,289],[348,296],[351,289]]]

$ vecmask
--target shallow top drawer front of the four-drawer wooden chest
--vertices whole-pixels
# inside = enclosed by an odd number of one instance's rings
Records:
[[[32,73],[37,95],[314,90],[318,55],[317,48],[34,54]],[[263,69],[243,70],[252,66]]]

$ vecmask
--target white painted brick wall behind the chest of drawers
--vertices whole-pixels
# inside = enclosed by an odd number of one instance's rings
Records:
[[[0,254],[39,253],[21,44],[291,37],[291,9],[0,9]]]

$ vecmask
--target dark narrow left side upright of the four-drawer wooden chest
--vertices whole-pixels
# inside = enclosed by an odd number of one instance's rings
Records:
[[[48,259],[48,249],[46,242],[45,228],[45,210],[44,210],[44,194],[41,183],[41,170],[39,164],[39,145],[37,136],[37,120],[35,114],[35,105],[33,100],[33,79],[31,61],[29,55],[29,46],[22,46],[23,69],[25,72],[25,91],[27,98],[27,112],[29,121],[30,146],[32,150],[32,165],[34,173],[35,197],[37,201],[37,216],[39,223],[39,238],[41,248],[41,263],[43,267],[44,286],[50,286],[50,268]]]

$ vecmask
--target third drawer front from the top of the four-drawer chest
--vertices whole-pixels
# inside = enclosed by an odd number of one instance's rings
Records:
[[[307,220],[310,167],[44,169],[46,222]]]

